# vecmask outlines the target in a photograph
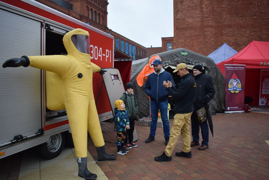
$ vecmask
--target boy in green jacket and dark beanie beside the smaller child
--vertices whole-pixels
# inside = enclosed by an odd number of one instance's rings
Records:
[[[124,147],[127,149],[131,149],[132,147],[137,147],[137,145],[133,142],[133,132],[134,132],[134,120],[136,117],[136,113],[138,112],[137,100],[134,95],[134,85],[129,82],[126,84],[126,92],[122,94],[120,100],[122,100],[125,104],[125,108],[129,115],[130,120],[130,129],[127,130],[126,139],[124,142]],[[129,140],[129,143],[128,143]]]

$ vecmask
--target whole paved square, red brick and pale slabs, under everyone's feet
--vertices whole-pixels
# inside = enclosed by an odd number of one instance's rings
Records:
[[[170,126],[173,121],[170,120]],[[210,134],[209,149],[197,150],[192,148],[192,158],[179,158],[176,151],[182,150],[182,140],[172,154],[171,162],[156,162],[155,156],[161,155],[165,149],[162,128],[157,128],[155,142],[144,143],[148,138],[150,127],[139,126],[136,129],[139,140],[138,147],[129,150],[125,156],[117,155],[115,161],[97,162],[101,167],[98,179],[269,179],[269,116],[266,113],[217,114],[213,116],[214,137]],[[108,154],[116,153],[116,133],[114,123],[103,123],[103,136]],[[112,142],[112,143],[108,143]],[[200,141],[201,142],[201,141]],[[269,143],[269,142],[268,142]],[[89,156],[97,161],[96,149],[89,139]],[[0,160],[0,180],[23,179],[23,173],[30,174],[27,179],[81,179],[77,177],[77,164],[72,149],[65,150],[55,160],[44,162],[33,151],[26,150]],[[27,153],[28,152],[28,153]],[[72,157],[71,157],[72,156]],[[66,171],[55,174],[55,165],[61,159],[66,161]],[[31,160],[30,160],[31,159]],[[36,159],[36,160],[34,160]],[[38,159],[38,160],[37,160]],[[74,159],[74,162],[73,162]],[[39,164],[36,164],[39,163]],[[28,163],[28,164],[27,164]],[[94,164],[94,163],[93,163]],[[39,165],[39,171],[38,169]],[[37,167],[36,167],[37,166]],[[44,168],[45,169],[44,169]],[[27,171],[28,169],[28,171]],[[34,170],[36,169],[36,170]],[[63,168],[61,168],[62,170]],[[91,171],[90,167],[89,170]],[[42,172],[43,171],[43,172]],[[92,170],[96,171],[96,170]],[[69,173],[71,174],[69,174]],[[40,177],[40,178],[38,178]],[[61,177],[61,178],[59,178]]]

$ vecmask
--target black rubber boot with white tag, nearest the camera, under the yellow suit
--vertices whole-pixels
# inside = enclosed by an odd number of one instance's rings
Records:
[[[96,179],[97,175],[91,173],[87,169],[87,157],[78,157],[77,164],[79,165],[79,177],[88,179]]]

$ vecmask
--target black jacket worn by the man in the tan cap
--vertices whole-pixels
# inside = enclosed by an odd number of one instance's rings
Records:
[[[169,94],[176,99],[174,112],[177,114],[193,112],[193,103],[196,96],[196,83],[192,73],[184,75],[182,79],[178,89],[174,86],[167,88]]]

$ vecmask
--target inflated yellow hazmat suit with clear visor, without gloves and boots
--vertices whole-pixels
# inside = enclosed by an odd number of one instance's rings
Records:
[[[47,108],[66,110],[76,155],[87,157],[87,130],[96,147],[105,145],[92,83],[101,69],[91,63],[87,31],[66,33],[63,44],[68,55],[29,56],[29,66],[47,71]]]

